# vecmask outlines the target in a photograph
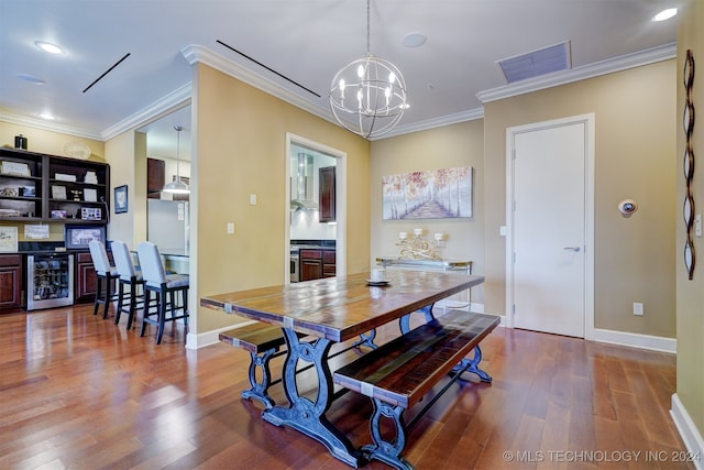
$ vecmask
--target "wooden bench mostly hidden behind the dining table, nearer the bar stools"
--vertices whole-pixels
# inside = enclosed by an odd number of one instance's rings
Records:
[[[351,348],[359,348],[360,346],[367,346],[372,349],[377,348],[374,343],[375,331],[370,331],[366,335],[360,335],[360,340],[354,342],[350,348],[332,354],[331,358],[348,351]],[[257,400],[266,408],[274,406],[274,401],[268,395],[268,389],[280,382],[280,379],[272,380],[272,373],[270,369],[270,361],[276,357],[286,353],[285,349],[286,339],[280,327],[256,323],[252,325],[245,325],[243,327],[233,328],[228,331],[223,331],[219,335],[219,339],[222,342],[232,345],[235,348],[242,348],[250,352],[250,369],[249,380],[250,389],[243,390],[241,396],[246,400]],[[300,369],[298,372],[309,369],[311,365]],[[256,371],[260,370],[261,380],[256,380]]]

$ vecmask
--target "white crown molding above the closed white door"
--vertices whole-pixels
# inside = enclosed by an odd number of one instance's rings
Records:
[[[549,76],[521,80],[513,85],[480,91],[476,94],[476,98],[482,103],[486,103],[498,99],[566,85],[587,78],[594,78],[601,75],[613,74],[628,68],[654,64],[656,62],[668,61],[674,57],[676,57],[676,43],[664,44],[662,46],[573,68],[568,72],[559,72]]]

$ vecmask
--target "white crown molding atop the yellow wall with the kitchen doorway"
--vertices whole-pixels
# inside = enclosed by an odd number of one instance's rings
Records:
[[[180,51],[186,61],[194,65],[196,63],[205,64],[216,70],[222,72],[240,81],[243,81],[254,88],[257,88],[268,95],[279,98],[289,105],[300,108],[310,112],[326,121],[336,123],[332,112],[320,108],[317,105],[301,98],[299,95],[284,88],[283,86],[265,78],[258,74],[255,74],[248,68],[231,62],[230,59],[217,54],[209,48],[199,44],[189,44]]]

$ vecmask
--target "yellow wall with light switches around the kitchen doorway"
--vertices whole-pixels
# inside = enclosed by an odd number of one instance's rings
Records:
[[[194,73],[191,220],[197,230],[191,262],[197,260],[197,288],[191,295],[284,282],[287,132],[346,153],[348,273],[367,270],[369,141],[208,66],[196,65]],[[249,204],[250,194],[257,195],[256,206]],[[233,236],[227,234],[228,222],[234,222]],[[197,332],[235,320],[200,308]]]

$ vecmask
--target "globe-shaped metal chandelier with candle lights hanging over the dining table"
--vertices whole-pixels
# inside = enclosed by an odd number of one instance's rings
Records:
[[[365,139],[389,132],[408,109],[400,70],[370,53],[370,0],[366,0],[366,55],[332,78],[330,108],[340,125]]]

